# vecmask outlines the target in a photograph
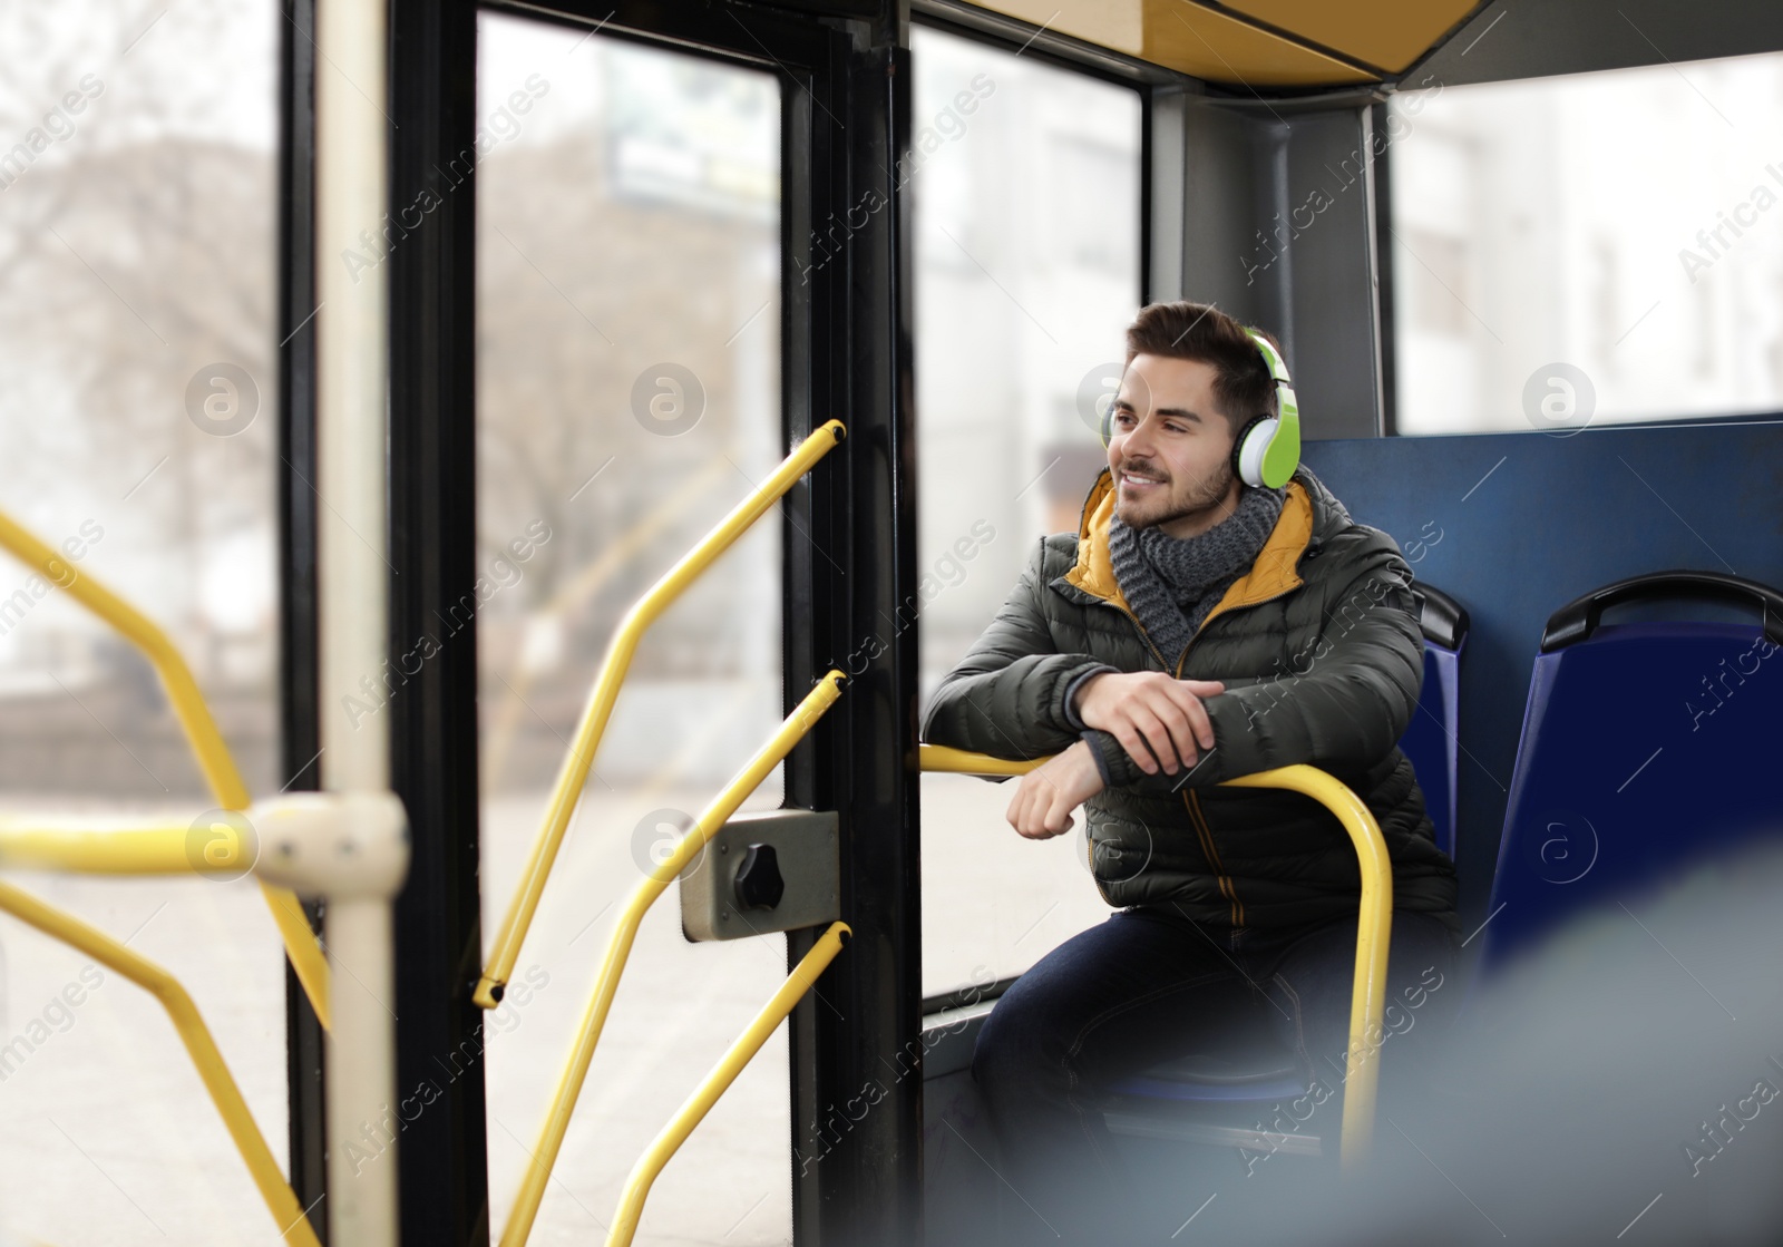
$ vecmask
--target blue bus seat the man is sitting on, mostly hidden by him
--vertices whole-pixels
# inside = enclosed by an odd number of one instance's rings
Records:
[[[1467,642],[1467,610],[1430,585],[1414,583],[1412,592],[1425,633],[1425,681],[1400,747],[1417,772],[1437,846],[1453,856],[1458,674],[1460,651]],[[1109,1115],[1109,1127],[1132,1131],[1134,1113],[1146,1108],[1177,1113],[1186,1104],[1253,1104],[1261,1111],[1277,1101],[1305,1095],[1316,1072],[1300,1069],[1294,1054],[1268,1029],[1266,1008],[1259,1001],[1234,1010],[1216,1035],[1196,1044],[1195,1053],[1116,1083],[1111,1090],[1122,1110]],[[1157,1122],[1148,1122],[1146,1133],[1159,1131]],[[1221,1142],[1205,1131],[1200,1138]]]

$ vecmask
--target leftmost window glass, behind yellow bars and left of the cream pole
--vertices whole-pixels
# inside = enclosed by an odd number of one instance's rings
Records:
[[[275,794],[278,7],[0,5],[0,508],[171,637]],[[223,380],[214,380],[223,378]],[[152,667],[0,557],[0,810],[214,801]],[[7,871],[171,970],[283,1163],[251,878]],[[0,1240],[278,1243],[162,1008],[0,917]]]

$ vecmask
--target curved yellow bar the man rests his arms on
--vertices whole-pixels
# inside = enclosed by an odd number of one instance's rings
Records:
[[[1047,758],[1011,762],[947,746],[918,747],[924,771],[952,774],[1027,774]],[[1293,765],[1227,780],[1234,789],[1287,789],[1309,796],[1337,815],[1355,846],[1362,871],[1362,901],[1355,931],[1355,987],[1350,994],[1350,1053],[1344,1069],[1343,1144],[1346,1169],[1368,1154],[1375,1131],[1375,1094],[1380,1085],[1382,1019],[1387,1010],[1387,944],[1393,937],[1393,863],[1380,824],[1362,799],[1318,767]]]

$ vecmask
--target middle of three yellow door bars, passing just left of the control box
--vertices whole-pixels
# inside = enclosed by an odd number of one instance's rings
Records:
[[[817,721],[836,705],[842,685],[847,680],[840,671],[827,673],[811,692],[804,696],[779,731],[756,751],[756,756],[738,771],[717,797],[711,799],[686,835],[676,844],[661,865],[651,871],[633,890],[626,908],[613,924],[613,933],[606,940],[606,953],[601,958],[601,976],[594,983],[594,997],[583,1013],[581,1029],[576,1036],[576,1049],[571,1053],[569,1067],[558,1081],[551,1097],[551,1113],[538,1131],[538,1145],[531,1151],[526,1165],[526,1177],[521,1181],[521,1193],[514,1197],[514,1211],[508,1226],[501,1233],[501,1247],[521,1247],[533,1233],[533,1218],[538,1215],[538,1201],[546,1195],[546,1183],[551,1181],[551,1167],[556,1165],[558,1149],[563,1147],[563,1135],[569,1131],[571,1113],[576,1111],[576,1097],[588,1078],[588,1065],[594,1061],[594,1047],[601,1042],[601,1028],[606,1026],[606,1012],[613,1004],[613,992],[619,990],[619,976],[626,970],[626,958],[631,954],[631,942],[638,935],[645,910],[663,894],[669,883],[681,874],[706,842],[719,833],[724,821],[736,813],[736,806],[754,792],[767,774],[781,764],[792,747],[817,724]]]

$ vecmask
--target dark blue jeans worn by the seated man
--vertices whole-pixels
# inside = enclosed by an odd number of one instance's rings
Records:
[[[1457,953],[1441,919],[1393,915],[1384,1074],[1409,1035],[1428,1038],[1453,1015]],[[1018,1242],[1111,1242],[1098,1231],[1107,1210],[1130,1210],[1148,1192],[1129,1188],[1102,1097],[1122,1078],[1195,1053],[1212,1031],[1266,1029],[1309,1083],[1339,1088],[1353,979],[1355,919],[1230,928],[1173,906],[1120,910],[1041,958],[997,1001],[972,1058],[1004,1179],[1045,1222]]]

